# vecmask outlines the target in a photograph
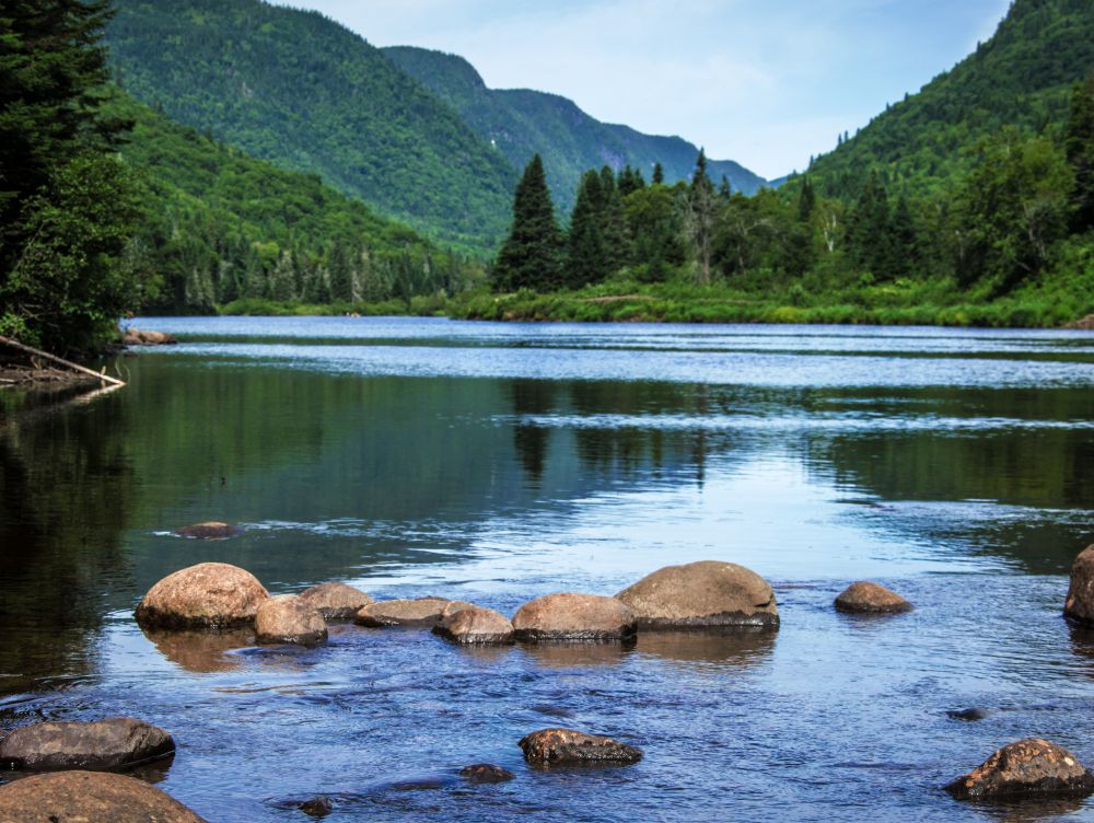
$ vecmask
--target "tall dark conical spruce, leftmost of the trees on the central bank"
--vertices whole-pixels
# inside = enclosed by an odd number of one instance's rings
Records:
[[[562,232],[555,220],[543,160],[536,154],[513,197],[513,227],[493,267],[501,291],[551,291],[562,279]]]

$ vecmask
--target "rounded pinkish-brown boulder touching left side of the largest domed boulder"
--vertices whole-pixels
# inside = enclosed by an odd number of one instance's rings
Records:
[[[561,592],[521,606],[513,634],[527,642],[627,640],[635,635],[635,615],[615,598]]]

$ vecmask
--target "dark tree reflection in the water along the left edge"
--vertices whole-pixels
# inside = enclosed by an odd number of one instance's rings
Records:
[[[24,402],[0,426],[0,692],[89,671],[102,593],[128,576],[119,541],[133,482],[118,405],[104,397],[90,414],[69,399]]]

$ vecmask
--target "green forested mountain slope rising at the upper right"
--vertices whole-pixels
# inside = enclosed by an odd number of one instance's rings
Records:
[[[871,169],[915,194],[944,190],[971,167],[982,138],[1006,126],[1058,128],[1072,85],[1092,70],[1091,0],[1015,0],[991,39],[814,161],[810,176],[841,197],[853,197]]]

